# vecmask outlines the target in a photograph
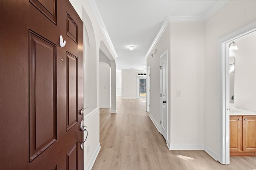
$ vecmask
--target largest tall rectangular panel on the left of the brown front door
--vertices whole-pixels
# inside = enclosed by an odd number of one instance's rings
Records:
[[[56,45],[29,31],[30,162],[57,139]]]

